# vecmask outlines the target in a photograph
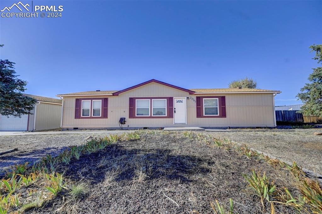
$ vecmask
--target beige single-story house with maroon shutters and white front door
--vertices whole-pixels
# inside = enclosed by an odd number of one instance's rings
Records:
[[[159,127],[275,127],[274,96],[280,91],[185,89],[155,79],[120,91],[58,94],[62,129]]]

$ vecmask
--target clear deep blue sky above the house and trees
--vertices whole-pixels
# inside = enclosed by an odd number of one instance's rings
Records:
[[[18,1],[1,1],[1,9]],[[22,1],[31,5],[31,1]],[[318,64],[322,1],[33,1],[61,18],[0,18],[1,58],[28,94],[121,90],[157,79],[225,88],[245,76],[295,96]]]

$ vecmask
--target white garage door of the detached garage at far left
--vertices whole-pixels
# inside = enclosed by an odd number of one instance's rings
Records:
[[[28,114],[19,117],[0,115],[0,131],[27,131]]]

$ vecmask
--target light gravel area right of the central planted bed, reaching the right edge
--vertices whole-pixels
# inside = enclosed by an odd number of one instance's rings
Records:
[[[204,132],[220,138],[245,143],[284,161],[322,174],[322,129],[294,129],[294,131]]]

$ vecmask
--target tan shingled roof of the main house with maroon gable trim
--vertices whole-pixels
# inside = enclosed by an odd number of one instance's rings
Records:
[[[175,85],[170,85],[155,79],[151,79],[147,82],[138,84],[138,85],[134,85],[132,87],[120,90],[120,91],[85,91],[85,92],[76,92],[76,93],[69,93],[69,94],[58,94],[58,97],[62,97],[62,96],[81,96],[81,95],[85,95],[85,96],[89,96],[89,95],[109,95],[109,96],[117,96],[118,94],[127,92],[129,90],[135,89],[137,87],[141,87],[143,85],[147,85],[149,83],[158,83],[158,84],[162,84],[162,85],[166,85],[168,87],[172,87],[181,91],[185,91],[189,94],[218,94],[218,93],[280,93],[280,91],[273,91],[273,90],[264,90],[264,89],[252,89],[252,88],[208,88],[208,89],[185,89],[185,88],[181,88]]]

